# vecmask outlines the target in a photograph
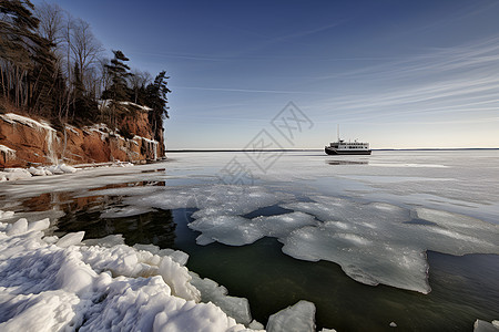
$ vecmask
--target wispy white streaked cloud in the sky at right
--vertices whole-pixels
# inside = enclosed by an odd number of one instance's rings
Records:
[[[468,113],[480,121],[499,112],[499,38],[432,50],[347,74],[361,93],[324,100],[346,118]],[[417,120],[417,117],[415,117]]]

